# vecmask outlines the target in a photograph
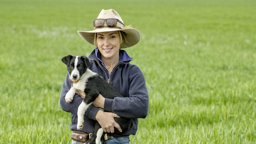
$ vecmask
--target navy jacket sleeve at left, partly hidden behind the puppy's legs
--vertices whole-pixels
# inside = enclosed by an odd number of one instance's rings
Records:
[[[67,77],[62,85],[61,94],[60,94],[60,100],[59,104],[63,111],[72,113],[77,115],[77,110],[79,105],[82,103],[83,98],[79,96],[78,94],[74,95],[74,98],[71,103],[67,103],[65,100],[65,96],[67,92],[69,91],[71,87],[70,79],[69,79],[69,73],[67,73]],[[85,117],[95,120],[95,116],[98,113],[99,109],[91,105],[87,111],[85,112]]]

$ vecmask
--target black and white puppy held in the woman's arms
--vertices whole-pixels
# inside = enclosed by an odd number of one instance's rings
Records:
[[[67,103],[72,102],[76,90],[83,90],[86,94],[83,102],[78,107],[78,122],[77,129],[81,130],[84,123],[84,114],[88,107],[93,103],[99,94],[104,98],[123,97],[117,90],[115,90],[104,79],[100,78],[95,72],[88,69],[90,66],[89,59],[85,56],[72,56],[67,55],[61,59],[63,63],[67,65],[70,80],[78,80],[77,83],[73,83],[73,87],[70,88],[65,96]],[[114,118],[120,125],[122,133],[130,129],[132,120],[130,118]],[[115,134],[121,134],[117,128],[115,128]],[[104,140],[104,131],[100,127],[100,124],[96,122],[93,136],[86,142],[86,144],[102,144]]]

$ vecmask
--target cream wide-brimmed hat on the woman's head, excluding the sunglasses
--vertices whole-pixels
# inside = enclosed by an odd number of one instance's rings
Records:
[[[115,18],[115,19],[119,19],[124,24],[124,22],[122,21],[122,18],[114,9],[108,9],[108,10],[102,9],[97,19],[99,18],[102,18],[102,19]],[[104,22],[104,26],[102,28],[94,28],[94,30],[91,30],[91,31],[77,31],[77,32],[85,41],[93,45],[94,45],[95,33],[109,32],[109,31],[123,31],[125,33],[125,41],[123,41],[122,47],[120,48],[128,48],[128,47],[134,46],[139,42],[140,33],[138,30],[136,30],[135,28],[125,28],[125,26],[119,22],[117,22],[117,24],[119,28],[109,28],[106,25],[106,22]]]

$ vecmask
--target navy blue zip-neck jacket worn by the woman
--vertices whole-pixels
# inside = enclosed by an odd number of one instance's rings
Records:
[[[109,111],[119,116],[132,118],[131,128],[123,135],[135,135],[138,126],[137,118],[145,118],[148,114],[148,92],[145,78],[138,66],[129,62],[132,60],[124,50],[119,52],[119,63],[113,68],[111,74],[105,68],[100,60],[100,52],[98,49],[93,50],[89,55],[91,62],[90,70],[96,72],[108,81],[116,90],[118,90],[124,98],[105,99],[104,111]],[[76,129],[77,110],[83,98],[78,94],[74,95],[71,103],[66,103],[65,95],[71,87],[69,74],[63,83],[60,94],[60,106],[64,111],[71,113],[70,130]],[[99,111],[98,108],[91,105],[85,112],[85,122],[83,129],[85,133],[93,133],[95,126],[95,116]],[[113,135],[115,137],[121,135]]]

